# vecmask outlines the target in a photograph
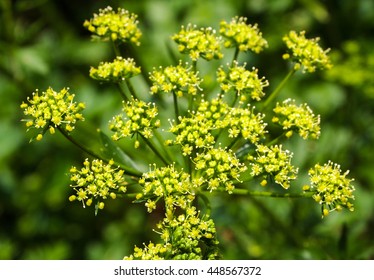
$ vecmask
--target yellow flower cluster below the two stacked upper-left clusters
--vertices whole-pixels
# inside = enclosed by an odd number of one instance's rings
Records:
[[[156,119],[158,110],[154,103],[134,99],[124,103],[122,111],[126,116],[116,115],[109,123],[110,130],[114,131],[112,139],[115,141],[136,133],[151,138],[153,129],[160,127],[160,120]]]

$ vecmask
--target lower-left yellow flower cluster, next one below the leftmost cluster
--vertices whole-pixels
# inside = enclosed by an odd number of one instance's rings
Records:
[[[70,186],[76,191],[75,195],[69,197],[70,201],[81,201],[83,207],[96,202],[97,207],[103,209],[102,200],[109,197],[115,199],[117,194],[126,192],[124,171],[115,167],[112,160],[104,163],[98,159],[86,159],[83,165],[80,170],[76,167],[70,169]]]

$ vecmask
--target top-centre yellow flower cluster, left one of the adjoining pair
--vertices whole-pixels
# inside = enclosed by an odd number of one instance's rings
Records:
[[[188,54],[193,61],[199,57],[205,60],[221,59],[221,38],[210,27],[197,29],[195,25],[182,26],[172,40],[178,44],[180,53]]]

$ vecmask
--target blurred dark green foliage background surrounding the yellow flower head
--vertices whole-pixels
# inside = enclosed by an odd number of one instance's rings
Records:
[[[119,95],[89,79],[90,65],[111,59],[83,28],[99,8],[139,15],[143,71],[170,63],[169,36],[188,22],[217,28],[246,16],[270,47],[248,65],[272,86],[286,74],[281,38],[290,29],[321,37],[335,68],[296,75],[281,92],[321,114],[317,142],[287,147],[301,171],[331,159],[355,178],[356,210],[321,220],[312,200],[216,197],[213,216],[226,259],[374,258],[374,2],[372,0],[0,0],[0,259],[122,259],[156,240],[143,205],[116,200],[95,217],[70,203],[68,170],[86,155],[58,134],[28,143],[19,105],[35,89],[70,87],[86,102],[92,129],[119,111]],[[135,85],[136,86],[136,85]],[[90,128],[90,127],[89,127]]]

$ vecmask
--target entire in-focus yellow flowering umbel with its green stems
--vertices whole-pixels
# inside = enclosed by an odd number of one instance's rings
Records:
[[[221,21],[219,31],[182,26],[171,36],[180,61],[154,67],[150,73],[121,53],[123,44],[141,42],[136,15],[107,7],[83,25],[96,40],[111,43],[116,54],[113,61],[92,66],[89,72],[95,80],[116,84],[123,98],[122,112],[108,121],[111,136],[99,132],[106,146],[103,150],[111,153],[91,150],[74,138],[75,124],[85,120],[85,105],[75,100],[69,88],[36,90],[21,108],[27,129],[36,131],[32,140],[41,141],[45,133],[59,131],[87,153],[82,167],[70,169],[70,201],[93,205],[95,213],[110,199],[144,203],[149,213],[162,211],[155,241],[135,246],[125,259],[221,258],[211,218],[213,193],[309,198],[320,205],[322,217],[343,208],[354,210],[355,188],[348,171],[331,161],[317,163],[309,169],[310,183],[295,186],[299,169],[292,163],[292,151],[282,145],[291,137],[315,140],[320,136],[320,116],[307,104],[291,99],[275,102],[296,71],[307,74],[332,67],[328,50],[319,46],[318,38],[307,39],[304,31],[283,37],[287,49],[283,59],[292,67],[268,93],[268,80],[240,61],[241,53],[257,54],[268,46],[258,25],[244,17]],[[216,87],[205,89],[199,62],[222,60],[224,49],[232,50],[233,59],[218,69],[212,64]],[[148,75],[146,98],[140,99],[144,94],[139,95],[131,83],[137,75]],[[166,119],[159,114],[165,104]],[[269,127],[279,129],[269,132]],[[120,145],[121,141],[132,144]],[[130,159],[126,155],[133,153],[123,147],[146,149],[149,157]]]

